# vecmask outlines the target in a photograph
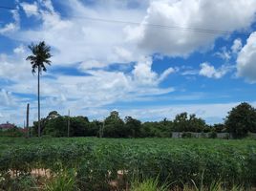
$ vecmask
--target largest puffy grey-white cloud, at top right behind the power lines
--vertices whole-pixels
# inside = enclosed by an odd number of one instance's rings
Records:
[[[148,53],[185,56],[211,46],[217,37],[224,35],[218,31],[233,32],[249,27],[255,11],[254,0],[152,1],[141,25],[126,28],[127,39],[137,42]]]

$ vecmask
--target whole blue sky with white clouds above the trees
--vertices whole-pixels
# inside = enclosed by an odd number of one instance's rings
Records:
[[[11,9],[4,9],[11,8]],[[41,117],[224,121],[256,106],[255,0],[1,0],[0,123],[37,117],[28,46],[45,41]]]

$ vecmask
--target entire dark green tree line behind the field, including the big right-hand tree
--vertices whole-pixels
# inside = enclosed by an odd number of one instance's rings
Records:
[[[101,137],[101,138],[170,138],[172,132],[231,133],[234,138],[256,133],[256,109],[248,103],[232,108],[224,118],[224,123],[208,125],[195,114],[181,113],[173,120],[141,122],[134,117],[119,116],[117,111],[110,113],[103,121],[88,117],[61,116],[56,111],[40,120],[40,134],[51,137]],[[68,123],[70,127],[68,128]],[[68,133],[69,129],[69,133]],[[38,122],[31,127],[33,135],[38,132]]]

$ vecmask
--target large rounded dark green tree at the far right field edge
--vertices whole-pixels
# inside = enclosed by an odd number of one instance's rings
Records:
[[[243,102],[232,108],[225,118],[225,125],[234,138],[243,138],[256,130],[256,110]]]

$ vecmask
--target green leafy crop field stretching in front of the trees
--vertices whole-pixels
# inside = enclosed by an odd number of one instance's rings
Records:
[[[74,172],[77,189],[125,188],[158,179],[170,187],[256,184],[256,141],[209,138],[0,138],[0,186],[41,169]],[[1,187],[0,187],[1,190]]]

